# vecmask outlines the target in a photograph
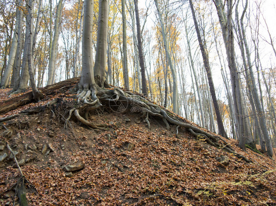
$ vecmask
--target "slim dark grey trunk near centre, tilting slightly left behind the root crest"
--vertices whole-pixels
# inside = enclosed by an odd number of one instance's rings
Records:
[[[138,0],[134,0],[135,6],[135,15],[136,15],[136,24],[137,24],[137,40],[138,40],[138,51],[139,51],[139,63],[141,68],[141,79],[142,79],[142,93],[147,95],[147,82],[146,82],[146,74],[145,74],[145,62],[144,62],[144,54],[142,49],[142,40],[141,40],[141,26],[138,12]]]

